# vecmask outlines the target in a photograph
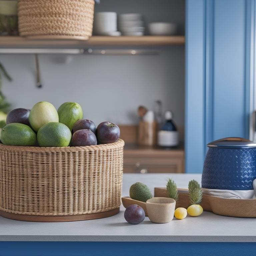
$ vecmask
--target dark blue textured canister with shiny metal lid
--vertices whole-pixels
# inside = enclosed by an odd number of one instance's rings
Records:
[[[256,144],[243,138],[224,138],[207,144],[202,188],[252,190],[256,178]]]

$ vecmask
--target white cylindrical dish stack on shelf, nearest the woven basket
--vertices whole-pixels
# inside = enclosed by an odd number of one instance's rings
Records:
[[[120,36],[117,31],[116,12],[96,12],[93,21],[93,33],[96,35]]]

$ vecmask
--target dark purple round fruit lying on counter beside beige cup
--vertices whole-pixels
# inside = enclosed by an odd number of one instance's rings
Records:
[[[125,209],[124,218],[131,224],[139,224],[145,219],[145,211],[139,205],[132,204]]]

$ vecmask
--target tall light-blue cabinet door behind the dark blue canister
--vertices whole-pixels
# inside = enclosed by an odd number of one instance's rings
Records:
[[[249,138],[254,0],[186,2],[186,172],[201,173],[206,144]]]

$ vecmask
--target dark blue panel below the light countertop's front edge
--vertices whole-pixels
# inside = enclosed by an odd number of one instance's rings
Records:
[[[256,243],[0,242],[0,256],[255,256]]]

